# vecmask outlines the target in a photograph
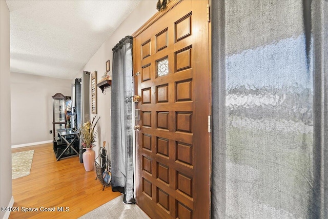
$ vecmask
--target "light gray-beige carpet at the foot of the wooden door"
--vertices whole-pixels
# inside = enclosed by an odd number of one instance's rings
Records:
[[[150,217],[142,211],[139,206],[123,203],[123,195],[120,195],[108,203],[79,217],[79,219],[149,219]]]

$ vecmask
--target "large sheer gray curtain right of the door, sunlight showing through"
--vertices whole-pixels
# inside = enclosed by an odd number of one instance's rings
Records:
[[[212,218],[328,218],[328,1],[212,1]]]

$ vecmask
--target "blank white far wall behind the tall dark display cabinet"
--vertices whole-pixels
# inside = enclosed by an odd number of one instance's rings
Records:
[[[50,141],[52,97],[71,96],[71,80],[31,74],[11,73],[12,145]]]

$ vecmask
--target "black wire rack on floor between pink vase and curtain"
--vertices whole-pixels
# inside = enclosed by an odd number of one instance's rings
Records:
[[[107,151],[105,148],[106,142],[104,142],[104,147],[100,147],[99,155],[95,159],[95,165],[96,165],[96,180],[100,181],[100,183],[104,186],[103,191],[105,189],[105,186],[111,185],[111,162],[107,158]],[[100,164],[98,163],[98,161]]]

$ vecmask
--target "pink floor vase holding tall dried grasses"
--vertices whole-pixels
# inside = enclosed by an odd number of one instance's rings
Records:
[[[92,122],[87,121],[79,128],[79,137],[81,139],[83,148],[86,151],[83,153],[83,165],[86,171],[93,170],[93,162],[95,160],[95,152],[92,150],[93,143],[98,132],[98,129],[95,130],[96,125],[100,117],[96,119],[96,116],[93,117]]]

